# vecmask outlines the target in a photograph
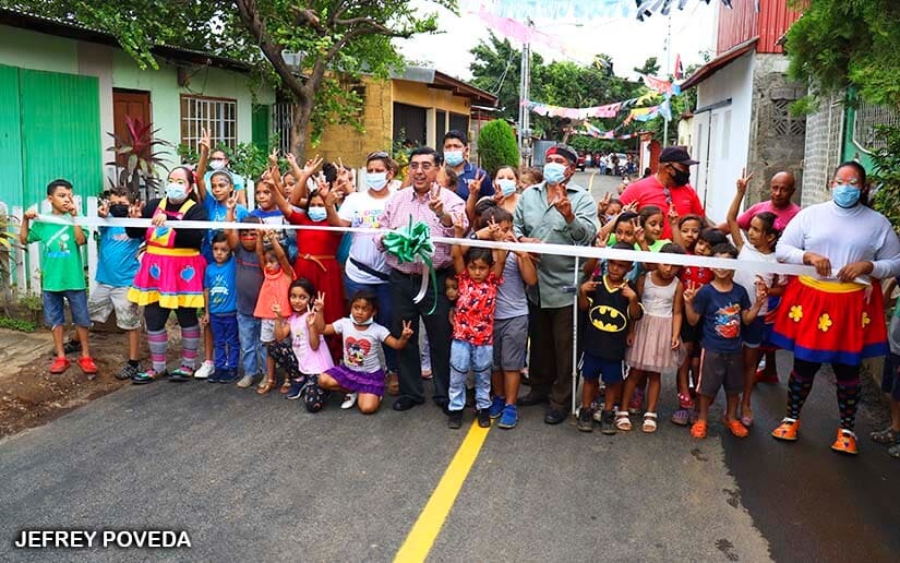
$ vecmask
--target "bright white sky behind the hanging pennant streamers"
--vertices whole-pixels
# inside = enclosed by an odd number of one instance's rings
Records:
[[[470,80],[469,64],[473,57],[469,49],[478,45],[479,39],[488,37],[487,24],[477,14],[467,12],[465,7],[460,9],[459,15],[454,15],[453,12],[427,0],[412,0],[411,3],[422,12],[436,12],[437,25],[444,33],[398,40],[400,52],[408,59],[424,62],[452,76]],[[674,65],[676,53],[681,55],[685,68],[692,63],[701,64],[701,51],[706,50],[715,56],[713,26],[719,4],[720,2],[707,4],[695,1],[688,2],[684,11],[672,10],[670,70]],[[668,19],[661,14],[653,14],[644,22],[638,22],[634,16],[622,17],[619,13],[611,16],[599,15],[589,22],[535,20],[536,29],[555,34],[567,45],[571,43],[575,47],[573,52],[567,55],[538,44],[532,44],[532,49],[540,52],[548,62],[573,60],[589,63],[593,53],[603,52],[612,58],[615,73],[623,77],[633,77],[634,67],[641,67],[648,57],[657,56],[661,74],[664,74],[668,23]],[[514,45],[517,48],[521,47],[515,41]]]

